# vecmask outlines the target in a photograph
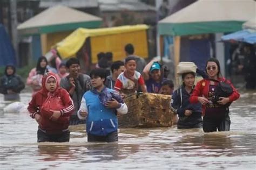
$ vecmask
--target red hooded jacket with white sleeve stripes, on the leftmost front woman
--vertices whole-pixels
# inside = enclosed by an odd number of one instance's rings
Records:
[[[53,77],[57,82],[56,90],[52,93],[50,93],[46,89],[46,82],[50,77]],[[33,95],[32,100],[29,103],[28,110],[30,112],[30,116],[32,118],[35,118],[36,114],[39,114],[41,116],[39,128],[45,130],[46,133],[61,133],[63,130],[69,128],[69,117],[75,110],[73,101],[70,98],[69,93],[65,89],[59,88],[57,76],[54,73],[49,72],[43,76],[42,87],[43,88],[41,90],[37,91],[37,93]],[[60,99],[61,105],[63,106],[62,108],[52,109],[59,110],[61,113],[61,116],[58,118],[57,121],[51,121],[50,117],[52,113],[42,109],[42,106],[46,99],[49,99],[48,97],[52,97],[53,99]]]

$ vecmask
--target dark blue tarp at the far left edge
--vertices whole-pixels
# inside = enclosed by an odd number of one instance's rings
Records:
[[[9,64],[16,66],[15,51],[4,26],[0,24],[0,67]]]

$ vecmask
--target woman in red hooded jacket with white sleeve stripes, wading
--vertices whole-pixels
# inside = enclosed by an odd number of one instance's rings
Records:
[[[54,73],[44,74],[42,87],[32,97],[28,107],[30,116],[39,125],[37,141],[69,141],[69,117],[75,109],[73,101],[65,89],[59,88]]]

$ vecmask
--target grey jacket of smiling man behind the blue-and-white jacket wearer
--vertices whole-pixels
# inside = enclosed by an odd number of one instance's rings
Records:
[[[76,112],[79,110],[84,93],[92,88],[90,80],[91,78],[89,75],[82,73],[80,73],[78,79],[75,80],[76,89],[73,95],[70,95],[75,105],[73,115],[76,115]],[[60,87],[66,89],[67,91],[70,90],[71,84],[69,83],[69,76],[66,76],[60,80]]]

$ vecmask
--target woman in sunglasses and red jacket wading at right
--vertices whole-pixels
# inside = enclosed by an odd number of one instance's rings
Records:
[[[233,84],[221,75],[220,63],[217,59],[210,58],[206,62],[206,73],[208,79],[203,79],[197,83],[190,97],[190,102],[200,102],[202,105],[204,132],[214,132],[217,129],[218,131],[229,131],[231,121],[226,104],[237,100],[240,95]],[[219,97],[218,102],[215,103],[213,101],[218,81],[230,84],[233,93],[229,97]]]

